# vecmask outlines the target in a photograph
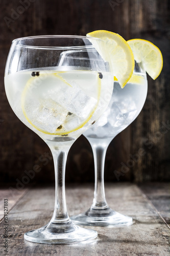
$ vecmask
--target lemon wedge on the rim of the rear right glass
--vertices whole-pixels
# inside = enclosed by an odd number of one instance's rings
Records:
[[[133,51],[135,60],[142,62],[145,71],[155,80],[163,67],[163,58],[159,48],[144,39],[131,39],[127,42]]]

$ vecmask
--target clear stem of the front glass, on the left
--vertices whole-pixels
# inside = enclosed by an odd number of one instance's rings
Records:
[[[69,147],[70,148],[70,147]],[[55,208],[51,223],[65,224],[70,222],[65,201],[65,165],[69,148],[60,150],[58,147],[51,148],[55,168]]]

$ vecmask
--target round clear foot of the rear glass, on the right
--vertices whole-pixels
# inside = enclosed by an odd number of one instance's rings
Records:
[[[78,225],[86,226],[127,226],[133,224],[133,219],[129,216],[119,214],[107,207],[106,209],[88,209],[83,214],[72,216],[70,218]]]

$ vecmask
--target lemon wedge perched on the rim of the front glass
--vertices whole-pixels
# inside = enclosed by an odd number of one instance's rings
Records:
[[[100,40],[95,42],[91,40],[102,58],[109,62],[112,73],[123,88],[131,78],[135,65],[133,52],[127,41],[122,36],[106,30],[96,30],[88,33],[87,36],[105,41],[107,45],[104,46]]]

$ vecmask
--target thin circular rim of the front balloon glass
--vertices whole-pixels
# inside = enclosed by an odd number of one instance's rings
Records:
[[[39,38],[80,38],[80,39],[90,39],[95,41],[103,41],[101,38],[91,37],[91,36],[81,36],[81,35],[38,35],[38,36],[26,36],[26,37],[19,37],[12,40],[12,44],[14,42],[19,42],[22,40],[29,40],[29,39],[39,39]],[[34,45],[22,45],[17,44],[17,46],[25,47],[25,48],[38,48],[38,49],[83,49],[83,48],[93,48],[93,45],[82,45],[82,46],[34,46]]]

